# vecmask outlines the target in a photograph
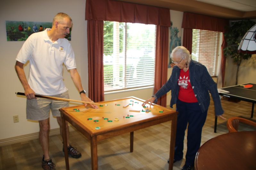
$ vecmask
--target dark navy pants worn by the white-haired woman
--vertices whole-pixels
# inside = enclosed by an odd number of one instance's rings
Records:
[[[175,140],[174,159],[183,159],[183,145],[185,130],[187,130],[186,165],[194,166],[196,152],[200,148],[202,127],[206,120],[207,110],[202,112],[199,103],[186,103],[178,100],[176,103],[178,113],[177,131]]]

